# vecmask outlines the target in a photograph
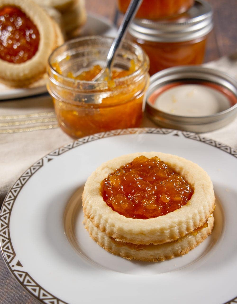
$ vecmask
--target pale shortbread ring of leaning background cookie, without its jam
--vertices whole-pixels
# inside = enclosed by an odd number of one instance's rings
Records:
[[[13,87],[28,86],[46,72],[49,55],[63,43],[58,24],[36,3],[29,0],[2,0],[0,7],[15,5],[26,14],[39,31],[39,47],[29,60],[16,64],[0,59],[0,81]]]

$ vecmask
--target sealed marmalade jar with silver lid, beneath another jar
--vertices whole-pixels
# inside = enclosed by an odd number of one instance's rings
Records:
[[[208,33],[212,30],[212,7],[203,0],[176,18],[159,21],[135,19],[130,39],[146,51],[150,75],[168,67],[201,64]]]

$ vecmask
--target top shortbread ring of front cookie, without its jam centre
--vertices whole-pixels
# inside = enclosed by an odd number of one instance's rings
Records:
[[[159,157],[188,181],[194,193],[186,205],[157,218],[132,219],[113,211],[104,202],[100,193],[101,181],[141,155]],[[147,245],[163,244],[184,237],[201,227],[215,208],[213,185],[208,174],[185,158],[159,152],[128,154],[102,164],[87,179],[82,200],[85,217],[101,232],[117,241]]]

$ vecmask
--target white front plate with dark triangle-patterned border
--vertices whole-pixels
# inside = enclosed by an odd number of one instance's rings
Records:
[[[210,175],[217,207],[211,236],[183,257],[128,261],[90,239],[80,194],[87,177],[122,154],[161,151]],[[237,294],[237,151],[195,133],[127,129],[59,148],[16,181],[0,216],[2,253],[13,276],[41,303],[223,304]]]

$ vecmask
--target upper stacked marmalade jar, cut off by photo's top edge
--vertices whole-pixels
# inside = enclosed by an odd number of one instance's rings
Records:
[[[118,0],[118,9],[125,13],[130,0]],[[143,0],[136,18],[161,19],[186,12],[194,0]]]

